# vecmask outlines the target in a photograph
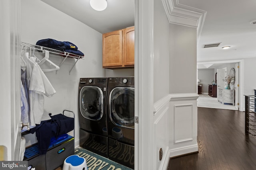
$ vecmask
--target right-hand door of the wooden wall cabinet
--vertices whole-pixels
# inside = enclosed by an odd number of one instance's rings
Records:
[[[134,27],[123,29],[123,66],[134,66]]]

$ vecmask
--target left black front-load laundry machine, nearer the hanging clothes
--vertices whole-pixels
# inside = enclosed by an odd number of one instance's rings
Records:
[[[108,157],[107,131],[108,78],[80,78],[79,125],[80,146]]]

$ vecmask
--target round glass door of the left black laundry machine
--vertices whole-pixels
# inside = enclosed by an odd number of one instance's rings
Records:
[[[80,113],[90,120],[100,120],[103,116],[103,93],[99,87],[84,86],[80,91]]]

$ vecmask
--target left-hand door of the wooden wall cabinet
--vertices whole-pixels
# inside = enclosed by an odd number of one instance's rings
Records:
[[[102,66],[122,66],[122,30],[102,34]]]

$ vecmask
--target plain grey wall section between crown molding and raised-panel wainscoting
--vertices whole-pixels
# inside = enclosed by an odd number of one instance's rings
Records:
[[[196,28],[170,24],[170,94],[196,93]]]

